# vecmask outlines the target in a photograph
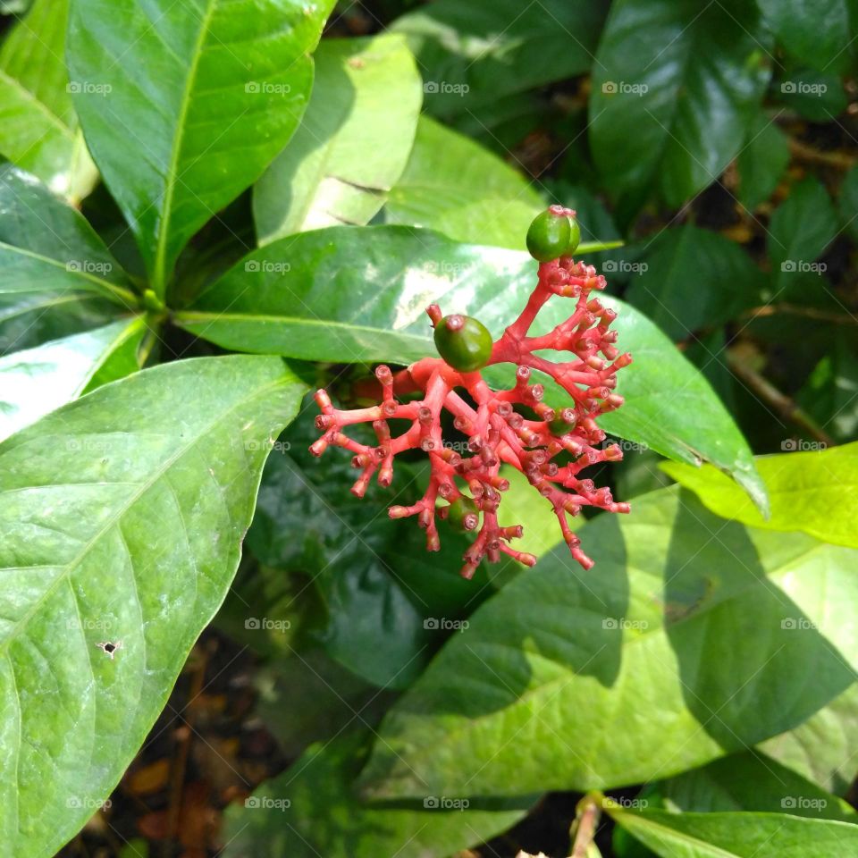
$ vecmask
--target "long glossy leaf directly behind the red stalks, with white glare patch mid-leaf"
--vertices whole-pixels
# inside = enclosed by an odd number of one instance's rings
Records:
[[[227,349],[408,364],[435,354],[428,304],[479,315],[499,336],[534,278],[534,260],[524,252],[400,226],[332,227],[254,251],[175,319]],[[605,428],[680,461],[709,459],[764,506],[751,451],[709,384],[652,322],[606,300],[620,310],[619,344],[635,363],[621,374],[627,404],[605,416]],[[549,330],[569,306],[552,301],[538,324]],[[511,369],[489,377],[509,380]]]

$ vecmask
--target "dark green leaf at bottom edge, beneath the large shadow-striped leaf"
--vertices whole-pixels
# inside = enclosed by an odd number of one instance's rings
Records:
[[[315,744],[282,775],[266,781],[226,814],[224,858],[446,858],[509,829],[525,815],[527,800],[498,809],[446,795],[426,795],[396,807],[357,802],[351,781],[366,760],[368,736],[347,733]],[[505,805],[505,806],[504,806]]]

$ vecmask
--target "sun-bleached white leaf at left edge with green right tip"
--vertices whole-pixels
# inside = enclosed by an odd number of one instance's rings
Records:
[[[128,342],[139,342],[145,331],[137,316],[0,357],[0,441],[94,389],[100,371],[121,378],[139,369],[124,360],[114,364],[111,358]]]

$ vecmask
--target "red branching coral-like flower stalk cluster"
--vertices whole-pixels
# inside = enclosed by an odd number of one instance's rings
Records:
[[[393,374],[389,367],[378,366],[375,377],[381,386],[381,404],[373,408],[340,410],[334,408],[324,390],[315,401],[321,409],[316,427],[323,432],[310,451],[321,456],[329,445],[354,454],[352,464],[360,470],[351,491],[363,497],[370,480],[377,475],[379,484],[393,480],[393,460],[405,450],[424,450],[431,462],[429,485],[424,496],[409,507],[393,506],[391,518],[416,516],[426,531],[426,547],[438,551],[440,538],[436,517],[445,518],[450,505],[463,495],[475,501],[477,512],[464,516],[467,530],[475,540],[465,552],[461,574],[474,575],[483,558],[491,562],[501,553],[533,566],[532,554],[516,551],[509,545],[522,534],[521,526],[501,527],[498,507],[509,482],[500,473],[506,463],[516,467],[547,501],[559,521],[563,538],[572,556],[585,568],[593,560],[581,549],[581,540],[572,532],[567,516],[576,516],[582,507],[593,506],[609,512],[628,512],[627,503],[618,503],[610,489],[597,488],[590,479],[582,479],[585,467],[603,461],[618,461],[622,450],[616,444],[601,446],[605,433],[596,424],[598,416],[622,405],[614,392],[617,371],[631,363],[631,356],[620,354],[615,346],[617,332],[610,330],[616,313],[591,299],[592,290],[605,288],[605,279],[592,265],[560,257],[539,265],[539,280],[515,322],[492,346],[488,365],[517,365],[516,384],[510,390],[492,391],[480,372],[458,372],[441,357],[425,357]],[[529,336],[534,319],[546,301],[554,296],[576,299],[568,319],[543,336]],[[442,312],[437,305],[427,308],[433,325]],[[568,352],[573,360],[553,363],[536,352]],[[573,405],[555,412],[543,403],[543,385],[531,383],[531,371],[550,375],[568,392]],[[457,391],[470,395],[470,404]],[[399,401],[398,396],[422,392],[422,400]],[[526,407],[529,419],[516,410]],[[442,437],[442,411],[454,418],[453,425],[467,435],[470,455],[462,456]],[[391,435],[391,419],[411,422],[397,437]],[[349,425],[371,423],[377,439],[374,446],[349,438]],[[558,428],[561,425],[561,428]],[[568,464],[553,461],[560,453],[569,454]],[[439,506],[439,499],[447,501]]]

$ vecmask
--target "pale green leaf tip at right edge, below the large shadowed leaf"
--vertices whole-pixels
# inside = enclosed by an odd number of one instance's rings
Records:
[[[761,751],[835,795],[846,795],[858,765],[858,684],[800,727],[763,742]]]

